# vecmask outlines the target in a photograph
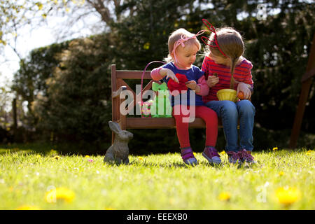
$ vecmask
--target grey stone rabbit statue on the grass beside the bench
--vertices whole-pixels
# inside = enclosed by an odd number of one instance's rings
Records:
[[[134,137],[131,132],[127,132],[125,130],[121,130],[118,123],[109,121],[109,128],[115,134],[115,140],[113,145],[109,147],[106,151],[104,162],[116,163],[120,165],[121,163],[128,164],[129,159],[129,148],[128,141]]]

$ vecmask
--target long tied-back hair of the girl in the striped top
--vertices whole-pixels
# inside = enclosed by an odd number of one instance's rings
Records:
[[[244,59],[244,41],[241,37],[241,34],[239,34],[238,31],[235,29],[232,29],[230,27],[224,27],[221,29],[216,29],[216,39],[218,41],[218,45],[220,49],[225,53],[226,56],[229,57],[231,62],[231,68],[230,73],[233,77],[233,73],[235,70],[235,66],[238,62],[240,62],[242,59]],[[210,35],[209,38],[210,41],[214,41],[214,33]],[[211,42],[209,41],[208,44]],[[211,45],[215,45],[213,42]],[[225,57],[218,48],[214,48],[211,45],[209,45],[209,50],[211,51],[211,54],[213,54],[216,57]],[[230,88],[232,88],[232,83],[234,83],[234,78],[231,82]]]

